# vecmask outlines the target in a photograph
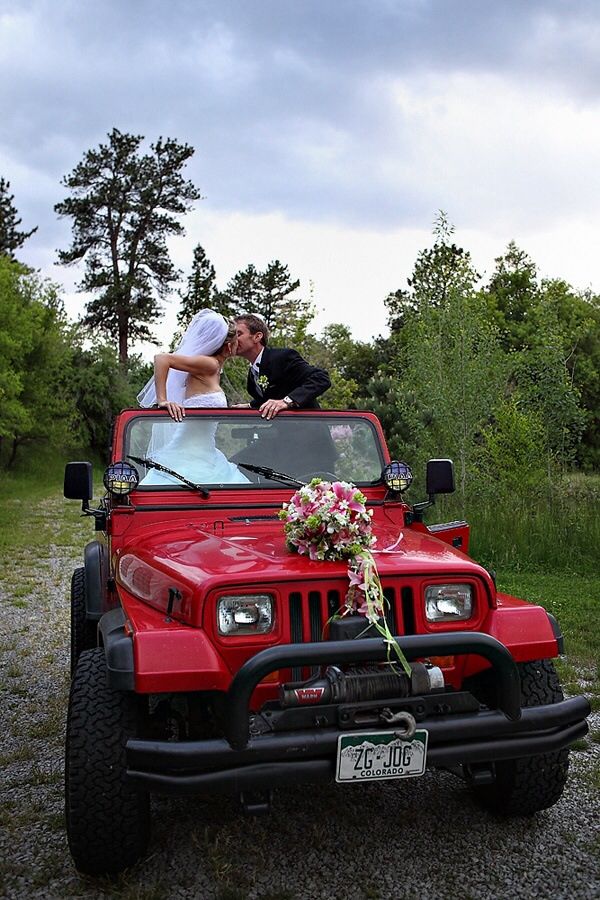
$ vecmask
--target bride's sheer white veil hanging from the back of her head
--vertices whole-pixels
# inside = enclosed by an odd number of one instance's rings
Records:
[[[212,356],[225,343],[229,325],[227,320],[214,309],[202,309],[196,313],[179,346],[174,350],[182,356]],[[169,369],[167,376],[167,399],[184,404],[185,385],[188,373]],[[154,375],[144,385],[137,396],[140,406],[148,408],[156,405],[156,385]]]

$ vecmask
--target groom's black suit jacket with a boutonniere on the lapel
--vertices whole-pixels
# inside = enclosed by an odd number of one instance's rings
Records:
[[[265,347],[259,374],[269,379],[262,394],[256,389],[252,369],[248,370],[247,388],[253,409],[258,409],[265,400],[284,397],[290,397],[301,409],[319,409],[317,397],[331,386],[325,369],[311,366],[296,350],[285,347]]]

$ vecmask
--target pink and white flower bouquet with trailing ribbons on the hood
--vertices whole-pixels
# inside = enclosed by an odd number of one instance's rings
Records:
[[[290,550],[313,560],[348,560],[348,593],[339,615],[359,613],[381,634],[404,671],[411,670],[391,633],[377,565],[371,553],[376,542],[367,498],[346,481],[313,478],[284,503],[279,518]],[[369,626],[365,626],[365,631]]]

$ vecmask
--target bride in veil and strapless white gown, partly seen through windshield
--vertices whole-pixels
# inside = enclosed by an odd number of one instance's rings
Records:
[[[140,406],[159,406],[174,420],[153,425],[147,456],[194,483],[244,484],[249,481],[217,449],[218,422],[213,419],[183,421],[186,408],[227,406],[220,376],[225,361],[235,355],[236,346],[235,322],[227,322],[212,309],[203,309],[190,322],[174,353],[158,353],[154,357],[154,376],[138,394]],[[181,482],[166,472],[151,469],[141,484]]]

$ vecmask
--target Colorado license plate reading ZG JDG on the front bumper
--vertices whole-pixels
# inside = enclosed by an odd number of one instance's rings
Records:
[[[425,729],[407,741],[393,731],[350,732],[338,738],[336,781],[379,781],[423,775],[427,761]]]

